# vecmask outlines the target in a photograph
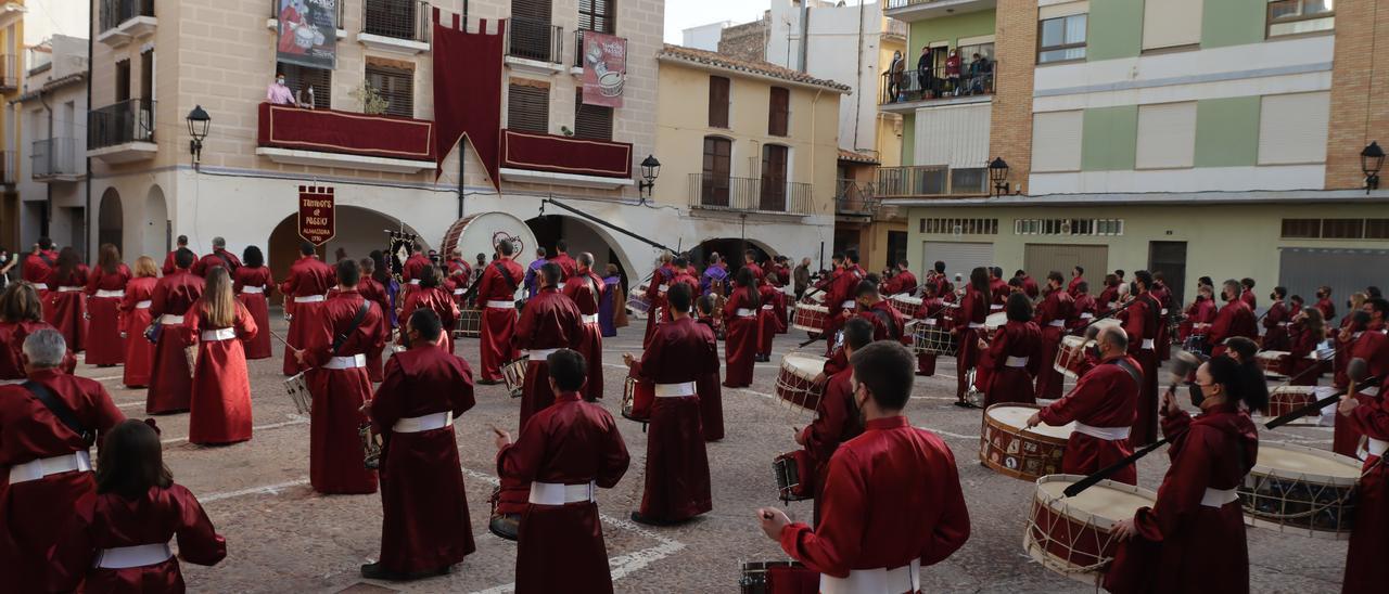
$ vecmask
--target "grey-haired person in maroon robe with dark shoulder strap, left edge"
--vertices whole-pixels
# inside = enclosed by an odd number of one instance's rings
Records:
[[[125,419],[100,383],[60,371],[63,334],[42,329],[24,340],[28,382],[0,386],[0,576],[15,593],[72,591],[92,565],[85,527],[96,483],[88,450]],[[58,421],[35,390],[72,411]]]

